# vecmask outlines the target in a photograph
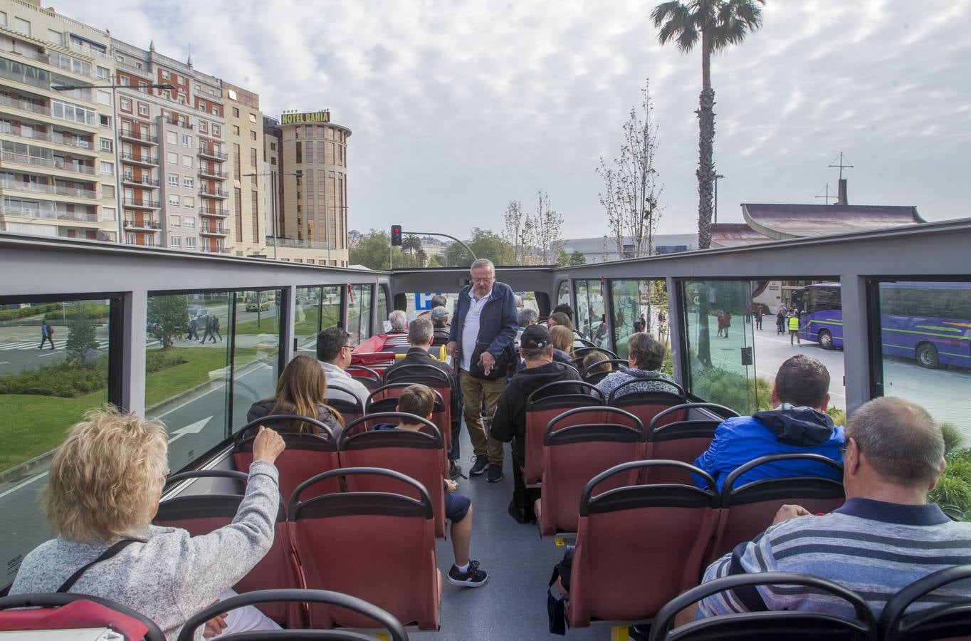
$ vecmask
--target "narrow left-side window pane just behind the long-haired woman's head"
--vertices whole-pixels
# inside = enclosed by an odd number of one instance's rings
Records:
[[[280,289],[235,292],[233,431],[246,424],[253,403],[276,393],[282,298]]]

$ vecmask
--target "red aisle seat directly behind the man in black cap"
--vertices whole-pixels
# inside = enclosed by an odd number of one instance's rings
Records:
[[[582,391],[578,391],[578,389]],[[586,393],[586,392],[589,393]],[[582,381],[554,381],[535,389],[526,399],[526,438],[523,480],[536,485],[543,480],[543,434],[550,422],[566,410],[588,408],[590,412],[571,415],[571,420],[557,422],[558,427],[571,424],[602,422],[594,406],[603,406],[603,394]]]

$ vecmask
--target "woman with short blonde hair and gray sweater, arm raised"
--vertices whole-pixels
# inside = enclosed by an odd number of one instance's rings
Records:
[[[147,616],[174,641],[189,617],[232,596],[270,549],[280,504],[274,461],[284,447],[277,432],[260,427],[233,523],[190,536],[151,525],[168,471],[165,426],[115,409],[88,412],[50,461],[42,504],[57,538],[24,557],[11,594],[108,598]],[[251,606],[211,620],[205,635],[277,627]]]

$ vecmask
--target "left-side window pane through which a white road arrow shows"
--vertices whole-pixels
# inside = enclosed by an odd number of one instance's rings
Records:
[[[173,471],[226,437],[229,304],[225,291],[149,296],[145,414],[169,429]]]

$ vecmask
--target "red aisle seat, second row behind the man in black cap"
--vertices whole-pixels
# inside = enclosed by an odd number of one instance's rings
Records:
[[[647,435],[637,417],[612,407],[597,410],[604,415],[603,422],[555,429],[555,423],[566,416],[561,415],[547,426],[543,435],[543,493],[535,509],[541,536],[576,532],[586,483],[615,465],[644,457]],[[637,475],[638,470],[615,474],[600,484],[599,490],[636,485]]]

